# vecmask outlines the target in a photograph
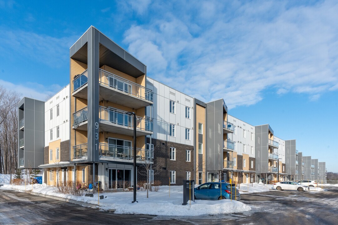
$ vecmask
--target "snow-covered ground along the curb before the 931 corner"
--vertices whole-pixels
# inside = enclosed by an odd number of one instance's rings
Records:
[[[16,189],[19,191],[30,191],[31,185],[16,186],[4,185],[0,189]],[[73,195],[65,195],[56,192],[55,187],[46,186],[45,184],[33,185],[33,192],[42,193],[46,195],[58,196],[76,201],[98,204],[98,194],[94,197],[76,197]],[[216,215],[246,212],[251,210],[251,207],[239,201],[231,200],[195,200],[188,202],[188,205],[183,203],[183,186],[171,186],[169,197],[169,186],[161,186],[158,192],[149,192],[149,198],[144,191],[137,192],[138,203],[131,203],[133,200],[133,192],[115,192],[103,193],[100,195],[107,196],[99,201],[99,208],[103,210],[115,209],[118,214],[147,214],[147,215],[160,215],[160,216],[198,216],[198,215]]]

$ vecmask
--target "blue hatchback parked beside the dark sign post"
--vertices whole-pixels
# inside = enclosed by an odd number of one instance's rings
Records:
[[[221,186],[222,184],[222,186]],[[222,190],[222,194],[221,194]],[[195,199],[201,200],[221,200],[233,199],[241,200],[241,194],[235,185],[227,182],[208,182],[195,188]]]

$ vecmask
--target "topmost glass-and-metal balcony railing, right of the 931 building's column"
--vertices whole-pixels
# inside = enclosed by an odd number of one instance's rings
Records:
[[[119,77],[115,74],[107,72],[103,69],[99,69],[100,80],[99,82],[105,86],[116,88],[117,90],[123,91],[125,93],[131,94],[132,96],[140,97],[142,99],[153,102],[153,92],[152,90]]]

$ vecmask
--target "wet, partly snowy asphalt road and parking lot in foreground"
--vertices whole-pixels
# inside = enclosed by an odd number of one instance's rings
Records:
[[[0,190],[0,224],[338,224],[338,188],[241,195],[252,210],[198,217],[118,215],[21,192]]]

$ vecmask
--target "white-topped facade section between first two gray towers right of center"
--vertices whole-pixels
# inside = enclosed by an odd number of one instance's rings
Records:
[[[255,182],[255,126],[231,115],[228,115],[227,121],[234,124],[234,133],[228,134],[228,139],[234,142],[234,152],[237,154],[236,165],[234,165],[237,166],[237,170],[235,170],[235,176],[233,177],[235,179],[238,178],[238,181],[243,183]],[[234,161],[234,158],[232,161]],[[233,171],[232,168],[226,169]]]

